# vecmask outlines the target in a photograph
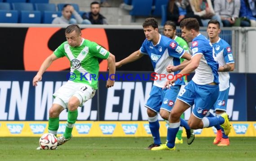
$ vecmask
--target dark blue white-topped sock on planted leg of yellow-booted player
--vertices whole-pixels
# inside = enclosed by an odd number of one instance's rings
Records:
[[[168,148],[173,148],[175,146],[175,138],[176,138],[177,132],[179,131],[180,124],[181,122],[169,124],[169,127],[167,129],[167,144],[166,144]]]

